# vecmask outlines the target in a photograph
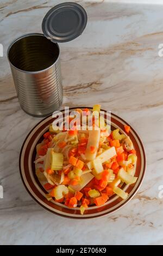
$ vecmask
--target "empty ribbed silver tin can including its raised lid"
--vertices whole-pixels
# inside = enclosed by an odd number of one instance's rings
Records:
[[[77,38],[87,15],[77,3],[62,3],[48,11],[40,33],[15,39],[8,47],[8,60],[22,109],[34,117],[45,117],[63,100],[60,49],[57,42]]]

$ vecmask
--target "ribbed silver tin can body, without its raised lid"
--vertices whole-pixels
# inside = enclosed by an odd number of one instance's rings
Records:
[[[8,47],[8,60],[26,113],[44,117],[59,109],[63,95],[58,44],[43,34],[22,35]]]

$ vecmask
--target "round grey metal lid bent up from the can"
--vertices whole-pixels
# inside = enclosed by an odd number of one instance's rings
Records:
[[[73,2],[55,5],[42,21],[42,32],[53,42],[68,42],[85,29],[87,14],[84,8]]]

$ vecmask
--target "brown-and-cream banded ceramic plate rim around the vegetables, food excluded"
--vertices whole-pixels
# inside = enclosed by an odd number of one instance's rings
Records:
[[[85,108],[85,107],[80,107]],[[73,108],[70,108],[73,110]],[[103,110],[104,111],[104,110]],[[106,113],[106,111],[104,111]],[[62,111],[64,115],[64,110]],[[142,142],[131,127],[129,136],[131,141],[134,144],[134,148],[137,154],[137,163],[136,163],[136,170],[135,176],[139,177],[135,184],[133,185],[126,185],[123,184],[121,188],[124,191],[128,192],[129,196],[126,200],[121,199],[120,197],[114,195],[112,196],[108,202],[106,202],[102,206],[91,206],[85,212],[84,215],[80,215],[79,208],[67,208],[64,204],[57,203],[54,201],[48,202],[45,197],[47,191],[45,188],[42,187],[37,176],[35,174],[35,156],[36,156],[36,145],[40,143],[43,139],[43,133],[48,131],[48,126],[53,122],[54,118],[52,115],[40,121],[32,131],[29,132],[27,138],[25,139],[22,149],[20,152],[20,174],[23,181],[24,186],[26,187],[27,191],[29,192],[30,196],[39,203],[43,208],[53,212],[54,214],[58,214],[64,217],[70,218],[95,218],[110,214],[122,206],[127,204],[129,200],[134,196],[138,188],[140,187],[143,176],[145,174],[146,168],[146,156],[145,150],[143,148]],[[111,128],[112,130],[119,128],[122,133],[124,132],[124,125],[129,125],[124,121],[122,118],[118,117],[117,115],[111,113]]]

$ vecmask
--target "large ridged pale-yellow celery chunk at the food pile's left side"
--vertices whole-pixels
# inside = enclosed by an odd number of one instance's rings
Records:
[[[64,163],[64,155],[62,153],[55,153],[51,151],[51,169],[61,170]]]

